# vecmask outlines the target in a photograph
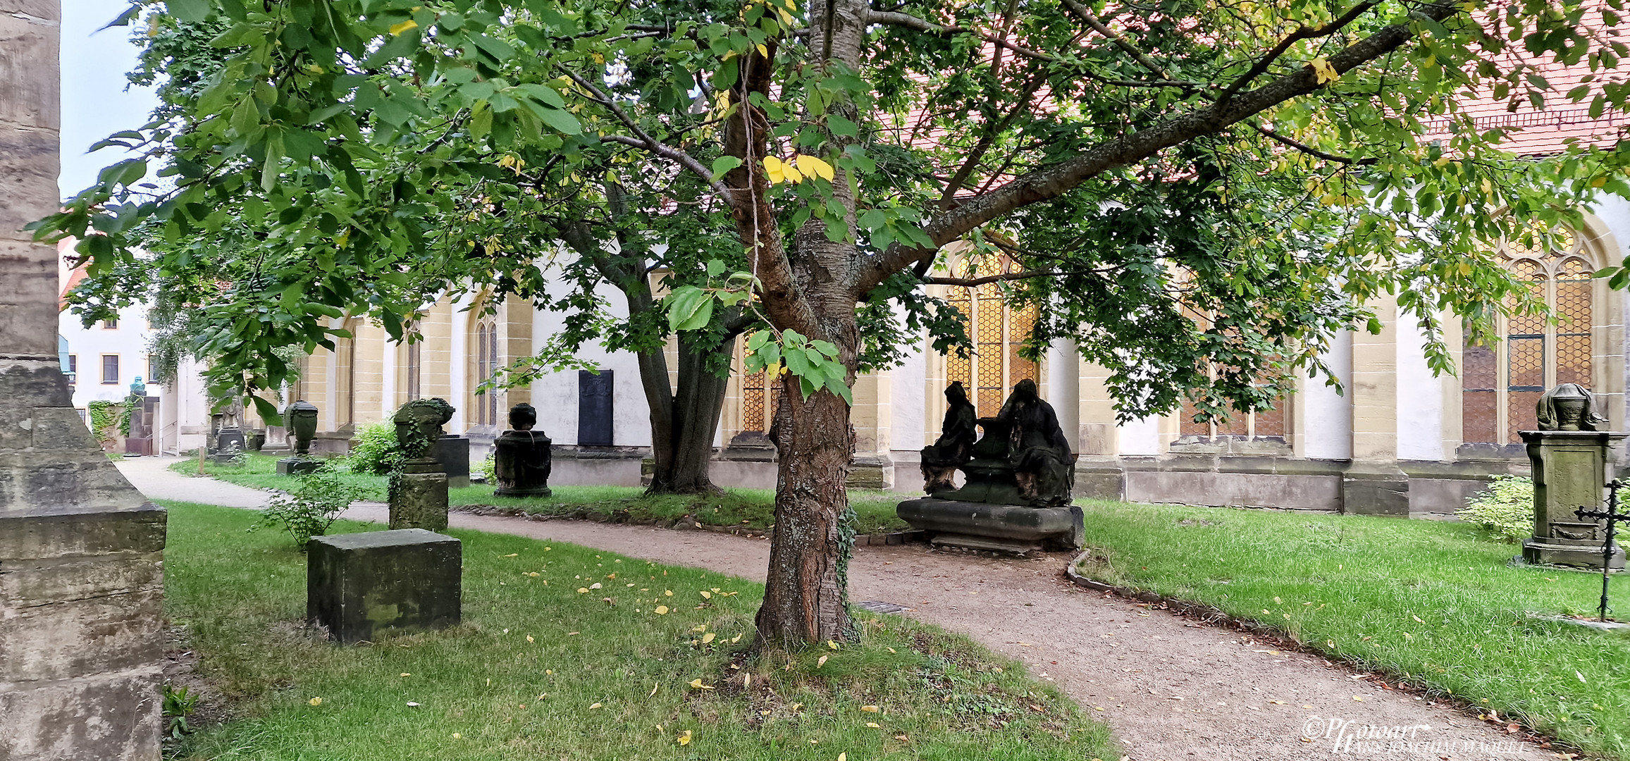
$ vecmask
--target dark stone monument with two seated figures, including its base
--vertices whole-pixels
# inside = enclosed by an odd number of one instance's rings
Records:
[[[955,404],[954,391],[947,389],[947,398]],[[947,412],[947,427],[960,427],[965,412]],[[942,445],[955,446],[967,435],[947,430],[932,446],[936,451],[924,450],[924,490],[931,495],[901,502],[895,508],[900,520],[929,531],[934,544],[1019,554],[1079,549],[1082,513],[1069,504],[1074,455],[1056,412],[1037,396],[1035,381],[1019,381],[1001,412],[978,419],[978,425],[985,437],[957,464],[967,484],[949,489],[942,473],[942,463],[955,460]]]

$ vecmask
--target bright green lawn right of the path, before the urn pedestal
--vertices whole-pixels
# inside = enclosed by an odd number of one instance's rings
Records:
[[[1594,614],[1601,575],[1511,564],[1467,523],[1082,502],[1079,569],[1275,624],[1315,650],[1630,756],[1630,632]],[[1612,595],[1630,609],[1630,578]],[[1630,616],[1620,616],[1630,618]]]

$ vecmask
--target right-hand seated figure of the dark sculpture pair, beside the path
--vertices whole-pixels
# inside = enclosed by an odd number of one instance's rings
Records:
[[[1007,422],[1007,460],[1014,466],[1019,494],[1035,507],[1068,505],[1074,458],[1058,425],[1058,412],[1042,401],[1035,381],[1019,381],[996,419]]]

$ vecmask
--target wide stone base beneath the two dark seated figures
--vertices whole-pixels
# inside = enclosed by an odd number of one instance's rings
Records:
[[[1076,551],[1082,543],[1081,507],[1020,507],[936,497],[905,500],[895,508],[934,544],[993,552]]]

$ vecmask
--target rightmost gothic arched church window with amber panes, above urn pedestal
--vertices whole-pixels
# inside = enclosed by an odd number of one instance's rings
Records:
[[[1548,249],[1504,243],[1498,253],[1529,293],[1555,313],[1514,315],[1500,321],[1493,347],[1467,341],[1460,368],[1460,429],[1469,443],[1519,443],[1519,430],[1537,427],[1534,406],[1547,388],[1591,388],[1596,271],[1578,235],[1553,236]]]

